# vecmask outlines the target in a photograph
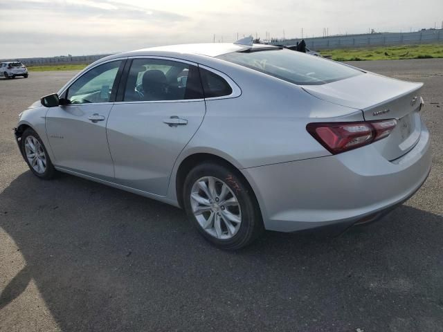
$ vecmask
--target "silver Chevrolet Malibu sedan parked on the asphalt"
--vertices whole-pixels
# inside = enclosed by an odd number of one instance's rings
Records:
[[[111,55],[21,113],[30,171],[181,207],[210,242],[345,230],[408,199],[431,167],[422,83],[278,46]]]

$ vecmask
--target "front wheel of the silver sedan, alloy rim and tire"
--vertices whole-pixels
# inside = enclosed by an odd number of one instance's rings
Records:
[[[21,151],[31,172],[39,178],[53,178],[55,168],[42,140],[33,129],[26,129],[21,136]]]

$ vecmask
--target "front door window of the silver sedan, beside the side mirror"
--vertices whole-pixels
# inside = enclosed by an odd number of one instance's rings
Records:
[[[92,68],[69,86],[66,98],[71,104],[109,102],[121,63],[118,60]]]

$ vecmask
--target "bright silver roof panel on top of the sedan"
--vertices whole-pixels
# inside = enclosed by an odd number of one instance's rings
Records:
[[[217,57],[218,55],[238,52],[239,50],[246,50],[248,48],[269,48],[275,47],[272,45],[253,44],[253,46],[246,46],[242,44],[233,43],[207,43],[207,44],[179,44],[169,46],[156,46],[150,48],[143,48],[141,50],[134,50],[137,52],[149,52],[149,51],[167,51],[174,53],[186,53],[186,54],[198,54],[206,55],[208,57]]]

